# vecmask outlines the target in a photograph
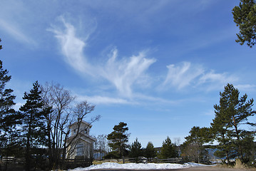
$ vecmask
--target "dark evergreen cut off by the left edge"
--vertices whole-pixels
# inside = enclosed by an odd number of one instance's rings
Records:
[[[1,42],[1,39],[0,39]],[[2,46],[0,46],[0,49]],[[13,90],[5,88],[6,83],[11,80],[8,71],[3,68],[0,60],[0,152],[2,156],[19,155],[19,113],[14,110]],[[7,164],[7,163],[6,163]],[[1,169],[1,165],[0,165]],[[5,170],[7,165],[5,165]]]

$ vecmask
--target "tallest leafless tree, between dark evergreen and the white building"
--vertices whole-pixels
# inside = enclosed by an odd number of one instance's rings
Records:
[[[70,91],[56,83],[46,83],[41,86],[41,91],[43,108],[49,110],[46,115],[49,170],[56,170],[61,165],[63,140],[68,135],[66,128],[73,122],[70,105],[75,97]]]

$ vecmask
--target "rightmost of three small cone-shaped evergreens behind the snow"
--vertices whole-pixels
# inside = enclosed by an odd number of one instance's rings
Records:
[[[163,145],[160,151],[160,158],[178,157],[178,152],[175,145],[172,143],[169,137],[163,141]]]

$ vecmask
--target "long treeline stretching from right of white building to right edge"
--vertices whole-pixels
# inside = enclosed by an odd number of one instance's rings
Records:
[[[255,130],[245,128],[256,125],[247,121],[256,111],[252,110],[253,99],[247,100],[247,94],[242,97],[239,95],[237,88],[227,84],[220,93],[220,104],[214,105],[215,118],[210,123],[210,128],[191,128],[190,135],[185,137],[185,142],[180,146],[171,142],[169,137],[158,150],[155,150],[152,142],[148,142],[147,147],[142,148],[138,139],[128,145],[128,127],[126,123],[121,122],[114,126],[112,133],[104,137],[111,148],[109,152],[105,151],[105,158],[193,157],[199,160],[209,157],[206,147],[213,147],[214,155],[227,165],[232,165],[230,161],[233,159],[240,159],[244,164],[252,164],[256,155]]]

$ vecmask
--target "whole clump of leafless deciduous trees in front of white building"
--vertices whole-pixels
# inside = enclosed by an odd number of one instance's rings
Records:
[[[95,105],[91,105],[87,101],[75,105],[75,97],[59,84],[46,83],[45,86],[41,86],[41,90],[44,108],[51,111],[46,116],[49,169],[56,169],[63,167],[65,159],[68,157],[66,156],[68,147],[76,145],[74,141],[79,133],[84,131],[78,129],[76,135],[68,140],[71,123],[77,120],[78,128],[80,128],[82,120],[94,110]],[[89,124],[98,118],[100,116],[92,118]]]

